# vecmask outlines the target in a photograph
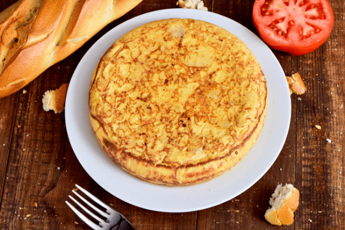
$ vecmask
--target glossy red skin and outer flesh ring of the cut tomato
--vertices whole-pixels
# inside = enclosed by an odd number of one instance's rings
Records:
[[[261,12],[260,12],[261,10],[260,7],[264,4],[265,0],[256,0],[254,3],[254,6],[253,6],[254,26],[258,30],[261,36],[261,39],[273,49],[288,52],[296,56],[310,53],[316,50],[317,48],[319,48],[328,39],[332,31],[333,24],[334,24],[334,14],[333,14],[331,4],[327,0],[321,0],[321,1],[323,1],[323,4],[325,4],[326,6],[324,8],[324,11],[329,16],[328,18],[329,24],[327,28],[324,28],[324,30],[322,30],[318,34],[318,37],[320,39],[315,40],[315,37],[313,37],[314,35],[311,36],[313,38],[313,43],[311,42],[308,43],[306,41],[308,39],[304,39],[302,41],[288,41],[287,39],[284,39],[286,41],[282,41],[281,40],[282,36],[280,36],[279,39],[277,39],[276,32],[273,29],[269,28],[268,26],[263,25],[260,21],[262,17]]]

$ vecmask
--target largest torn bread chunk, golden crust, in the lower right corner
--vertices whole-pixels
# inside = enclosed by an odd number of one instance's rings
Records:
[[[272,198],[271,208],[266,210],[265,219],[275,225],[290,225],[299,204],[299,191],[292,184],[278,184]]]

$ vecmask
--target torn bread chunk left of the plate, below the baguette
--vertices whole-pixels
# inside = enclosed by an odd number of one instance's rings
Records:
[[[67,88],[68,84],[66,83],[60,86],[59,89],[46,91],[42,99],[44,111],[62,112],[65,109]]]

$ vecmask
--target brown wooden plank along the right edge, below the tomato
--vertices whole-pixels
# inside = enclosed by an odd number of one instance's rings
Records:
[[[296,229],[344,229],[344,6],[332,2],[330,38],[299,59],[308,91],[297,102],[296,184],[301,200]],[[340,9],[340,10],[338,10]],[[343,33],[342,33],[343,34]],[[321,129],[315,128],[320,125]],[[327,139],[332,142],[329,143]]]

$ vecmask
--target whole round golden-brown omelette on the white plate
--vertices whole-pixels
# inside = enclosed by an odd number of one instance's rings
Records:
[[[114,43],[94,71],[89,114],[106,154],[158,184],[209,180],[235,166],[264,122],[253,53],[216,25],[173,18]]]

